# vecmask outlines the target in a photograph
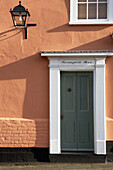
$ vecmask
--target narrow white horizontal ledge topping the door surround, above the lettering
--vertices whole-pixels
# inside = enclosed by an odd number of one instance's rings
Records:
[[[76,56],[83,56],[83,57],[106,57],[106,56],[113,56],[113,53],[41,53],[43,57],[76,57]]]

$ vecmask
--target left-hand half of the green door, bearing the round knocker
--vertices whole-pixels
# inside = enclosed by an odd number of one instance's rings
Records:
[[[71,150],[77,147],[76,144],[76,121],[75,121],[75,94],[76,76],[74,73],[62,74],[61,100],[62,100],[62,150]]]

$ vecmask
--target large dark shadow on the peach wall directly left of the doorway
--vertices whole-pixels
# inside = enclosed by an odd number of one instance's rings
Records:
[[[48,118],[49,72],[47,58],[42,58],[37,53],[0,68],[0,80],[16,79],[26,79],[22,117],[28,119]]]

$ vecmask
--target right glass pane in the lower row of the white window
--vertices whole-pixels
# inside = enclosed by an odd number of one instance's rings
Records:
[[[107,4],[98,4],[98,18],[107,19]]]

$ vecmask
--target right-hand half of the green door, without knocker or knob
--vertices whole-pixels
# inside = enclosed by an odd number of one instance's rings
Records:
[[[93,75],[77,73],[78,150],[93,148]],[[81,142],[82,139],[82,142]]]

